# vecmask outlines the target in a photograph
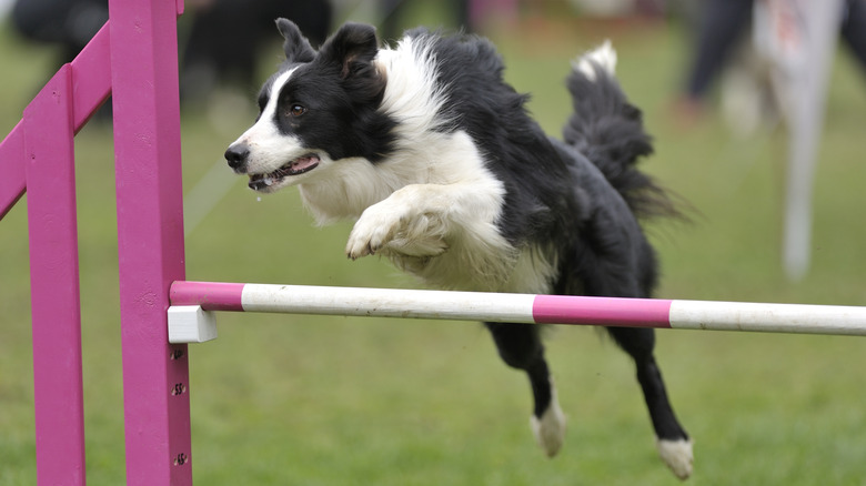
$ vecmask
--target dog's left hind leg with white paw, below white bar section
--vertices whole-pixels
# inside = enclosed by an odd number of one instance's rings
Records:
[[[523,369],[530,377],[535,401],[530,423],[545,454],[555,456],[565,438],[565,414],[556,401],[556,389],[544,360],[538,326],[504,323],[486,323],[486,326],[505,364]]]

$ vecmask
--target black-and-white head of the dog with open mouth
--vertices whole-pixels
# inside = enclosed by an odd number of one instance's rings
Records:
[[[293,22],[279,19],[285,61],[259,93],[255,123],[225,151],[250,188],[274,192],[341,159],[377,162],[392,142],[393,122],[379,111],[385,77],[372,26],[346,23],[315,51]]]

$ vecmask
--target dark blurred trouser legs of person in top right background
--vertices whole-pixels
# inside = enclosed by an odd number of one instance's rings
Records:
[[[761,0],[758,0],[761,1]],[[705,0],[697,44],[687,72],[681,108],[694,115],[703,110],[713,82],[727,65],[735,47],[749,31],[755,0]],[[866,69],[866,0],[846,0],[842,38]]]

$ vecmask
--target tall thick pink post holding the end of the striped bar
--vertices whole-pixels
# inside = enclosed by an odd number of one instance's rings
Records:
[[[174,0],[110,0],[128,485],[192,484],[185,345],[168,340],[184,276]]]

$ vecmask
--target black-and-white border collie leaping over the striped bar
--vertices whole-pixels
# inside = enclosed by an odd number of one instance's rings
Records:
[[[316,51],[294,23],[276,24],[285,62],[225,152],[250,188],[296,185],[320,223],[356,220],[349,257],[387,256],[433,286],[651,295],[656,259],[637,217],[673,207],[634,168],[653,149],[610,44],[574,61],[561,142],[530,118],[484,39],[419,29],[380,48],[373,27],[348,23]],[[555,455],[565,416],[540,327],[486,326],[505,363],[528,375],[532,428]],[[692,442],[668,404],[653,330],[607,331],[635,361],[662,458],[688,477]]]

